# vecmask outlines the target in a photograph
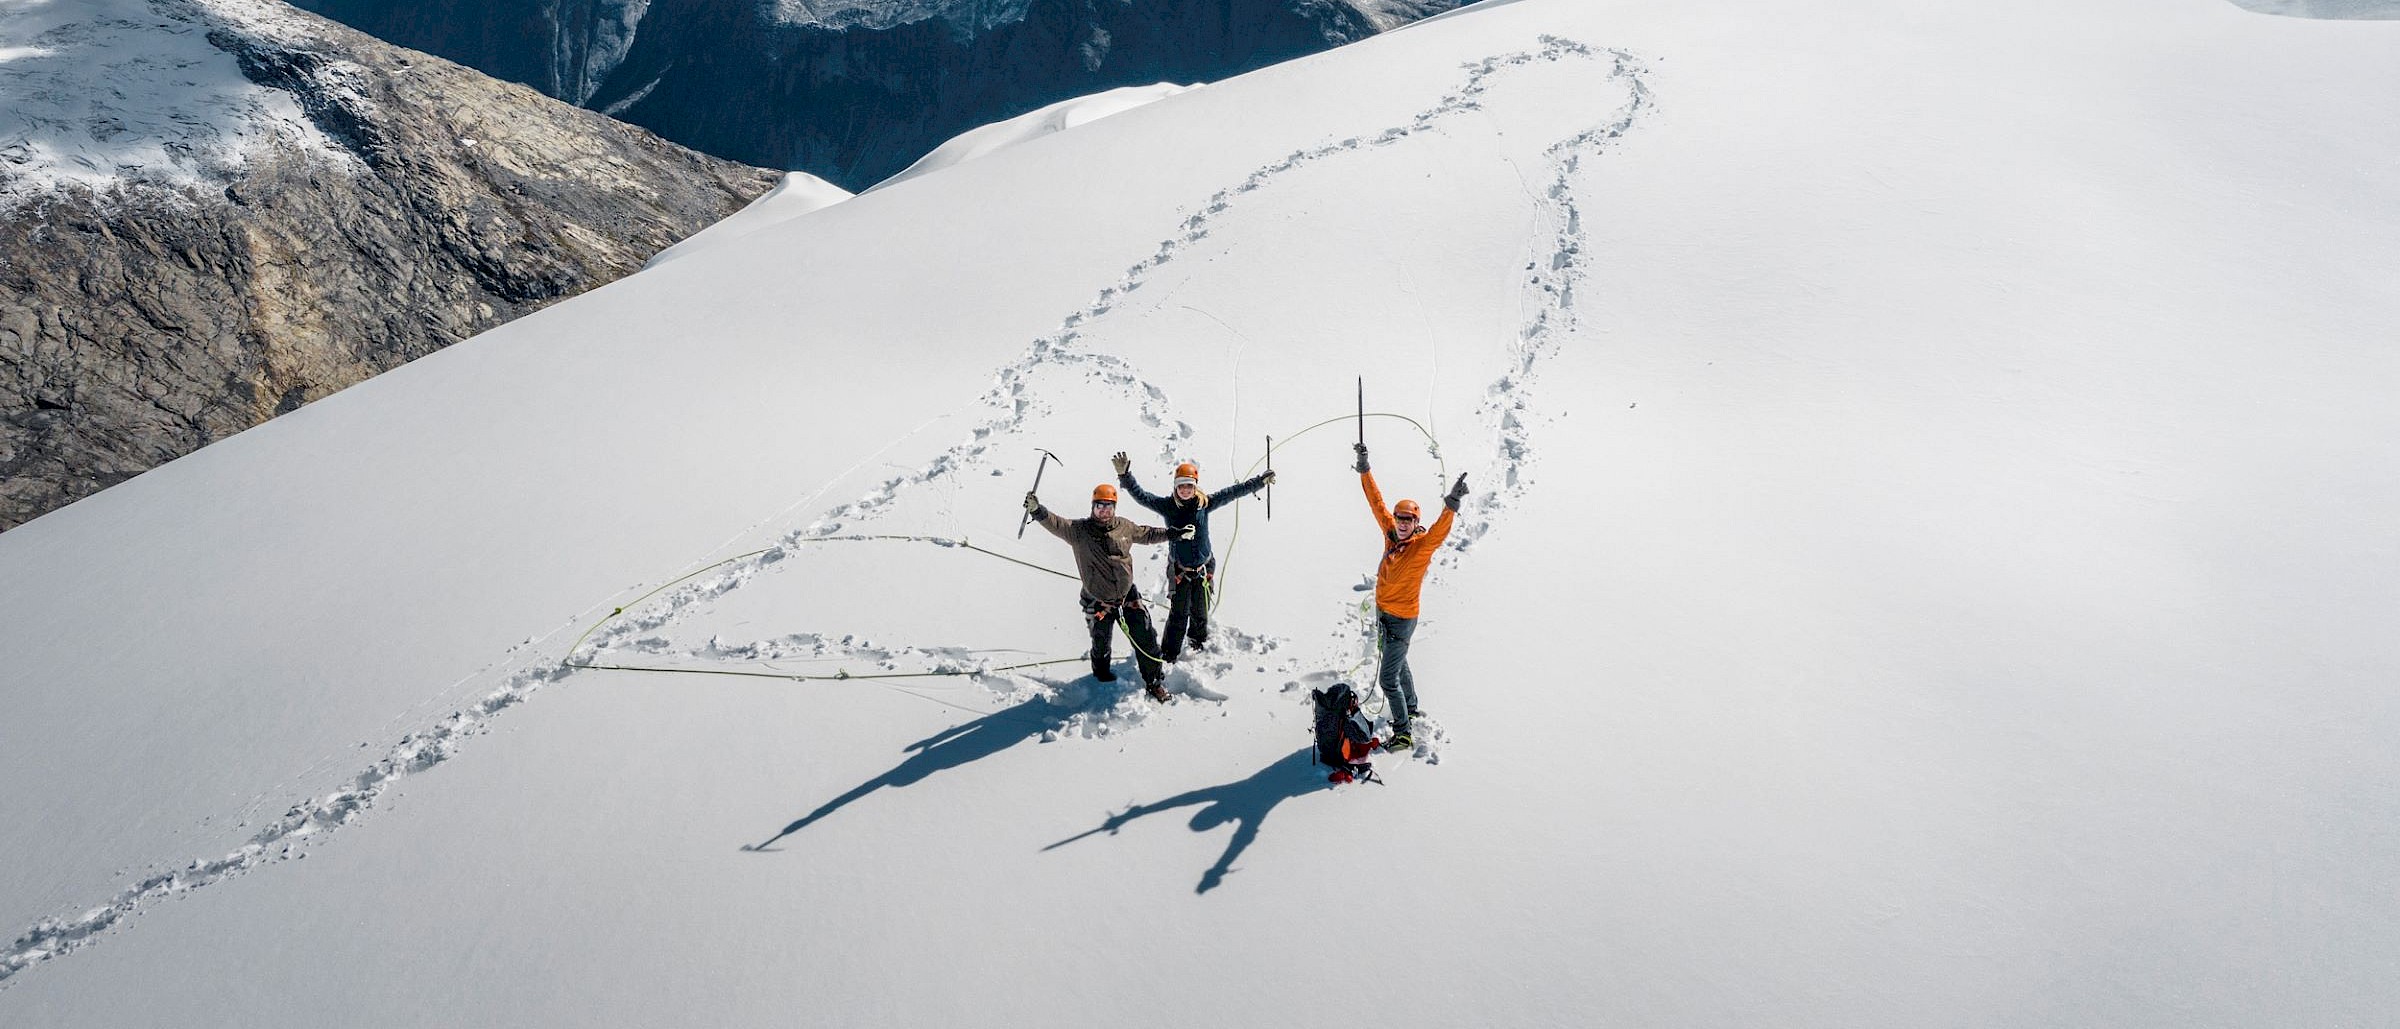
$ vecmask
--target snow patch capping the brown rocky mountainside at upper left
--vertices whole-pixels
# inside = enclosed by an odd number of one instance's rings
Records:
[[[298,31],[298,17],[254,0],[0,0],[0,204],[194,185],[278,142],[338,154],[211,29]]]

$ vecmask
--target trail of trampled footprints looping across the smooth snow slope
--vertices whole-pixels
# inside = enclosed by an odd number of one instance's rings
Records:
[[[1272,161],[1241,182],[1229,185],[1210,194],[1195,213],[1190,213],[1174,235],[1162,240],[1157,249],[1126,269],[1126,273],[1104,285],[1092,302],[1070,312],[1061,319],[1058,329],[1049,336],[1037,338],[1025,357],[1003,367],[996,374],[996,386],[982,398],[982,403],[996,415],[984,420],[972,434],[950,446],[946,453],[922,465],[910,475],[898,475],[883,485],[869,489],[864,497],[826,511],[821,518],[806,523],[799,530],[785,532],[773,547],[761,552],[727,559],[708,566],[703,573],[689,576],[689,583],[679,583],[665,590],[655,590],[655,597],[646,597],[631,607],[619,607],[614,614],[602,619],[586,640],[578,640],[562,655],[554,664],[526,667],[506,674],[504,684],[480,700],[454,710],[449,717],[430,729],[410,732],[398,744],[394,744],[382,758],[370,768],[358,772],[346,787],[312,799],[307,804],[293,806],[286,816],[259,830],[245,847],[209,861],[192,861],[185,868],[156,873],[130,885],[125,892],[113,897],[108,904],[89,909],[72,919],[43,919],[26,933],[17,935],[7,950],[0,950],[0,983],[5,983],[17,971],[46,957],[58,957],[74,952],[98,935],[108,933],[127,916],[139,914],[142,907],[161,899],[199,890],[204,885],[240,875],[245,871],[307,856],[307,844],[324,837],[326,832],[350,825],[365,811],[370,811],[386,789],[408,775],[422,772],[439,765],[442,760],[458,753],[466,739],[490,729],[492,717],[523,703],[528,696],[547,684],[571,676],[578,667],[610,664],[607,655],[629,652],[648,657],[682,657],[701,662],[792,662],[792,660],[842,660],[842,662],[869,662],[878,669],[919,669],[931,667],[941,674],[960,674],[984,681],[989,688],[1001,693],[1001,698],[1018,700],[1020,705],[1042,703],[1056,712],[1042,734],[1044,741],[1085,736],[1104,739],[1116,732],[1142,724],[1152,717],[1147,700],[1138,700],[1130,691],[1087,691],[1080,684],[1056,684],[1034,676],[991,672],[994,662],[979,657],[958,645],[941,643],[869,643],[859,638],[823,638],[811,633],[780,636],[758,643],[727,643],[710,638],[701,648],[674,650],[667,640],[658,638],[660,628],[667,628],[696,609],[706,607],[710,600],[727,597],[742,585],[751,583],[758,573],[790,559],[799,547],[828,544],[828,542],[859,542],[869,540],[857,532],[859,523],[869,523],[878,513],[888,511],[895,501],[907,497],[912,489],[941,482],[970,468],[977,468],[996,446],[1013,439],[1034,413],[1046,410],[1037,381],[1046,374],[1078,374],[1085,384],[1102,384],[1121,396],[1135,401],[1135,415],[1142,425],[1152,429],[1166,429],[1169,439],[1190,439],[1193,427],[1178,420],[1174,403],[1166,391],[1147,381],[1133,362],[1080,348],[1082,333],[1099,319],[1109,317],[1128,295],[1142,290],[1154,271],[1171,264],[1181,254],[1190,252],[1205,242],[1226,216],[1231,216],[1243,197],[1258,194],[1272,187],[1286,173],[1303,166],[1339,158],[1346,154],[1375,151],[1402,144],[1414,134],[1421,134],[1442,120],[1481,108],[1481,98],[1493,89],[1493,82],[1510,70],[1522,70],[1531,65],[1560,65],[1560,62],[1603,62],[1606,82],[1627,91],[1627,103],[1620,106],[1606,125],[1584,130],[1574,137],[1560,139],[1548,149],[1555,161],[1555,180],[1546,204],[1555,211],[1548,218],[1555,223],[1555,252],[1548,264],[1536,261],[1534,276],[1526,290],[1538,295],[1531,305],[1529,321],[1522,326],[1522,338],[1517,345],[1517,360],[1502,377],[1490,386],[1493,432],[1493,461],[1500,477],[1507,482],[1502,497],[1519,497],[1529,482],[1531,449],[1529,439],[1534,432],[1534,408],[1529,401],[1529,389],[1536,381],[1538,362],[1550,348],[1555,348],[1555,331],[1572,321],[1574,283],[1582,281],[1584,269],[1579,261],[1582,245],[1582,218],[1574,211],[1572,197],[1567,192],[1567,180],[1577,173],[1579,161],[1586,154],[1603,151],[1610,142],[1620,139],[1637,118],[1651,106],[1649,89],[1642,82],[1644,67],[1627,53],[1620,50],[1596,50],[1591,46],[1541,36],[1541,46],[1531,50],[1505,53],[1486,58],[1481,62],[1464,65],[1464,84],[1433,106],[1418,110],[1402,125],[1392,125],[1378,132],[1361,132],[1344,137],[1332,144],[1320,144]],[[802,501],[804,504],[804,501]],[[797,504],[794,504],[797,506]],[[1490,532],[1498,518],[1505,513],[1507,504],[1493,499],[1490,504],[1478,504],[1474,513],[1462,513],[1462,523],[1454,540],[1471,542]],[[917,542],[955,547],[953,540],[919,537]],[[1454,556],[1450,559],[1454,561]],[[1358,619],[1351,628],[1337,636],[1368,636],[1366,621]],[[1219,626],[1222,655],[1198,657],[1176,669],[1171,686],[1190,698],[1200,700],[1224,700],[1226,696],[1212,688],[1212,681],[1236,664],[1250,662],[1270,655],[1286,652],[1289,640],[1265,633],[1246,633],[1236,626]],[[538,643],[538,640],[528,640]],[[502,669],[509,664],[521,664],[530,652],[511,655],[504,660]],[[1238,657],[1238,660],[1236,660]],[[1361,660],[1363,664],[1363,660]],[[1294,703],[1306,703],[1306,686],[1332,681],[1332,672],[1303,672],[1306,662],[1301,657],[1279,657],[1282,672],[1296,674],[1298,679],[1284,686],[1284,693]],[[1356,672],[1358,664],[1351,667]],[[778,672],[778,669],[768,669]],[[794,672],[797,674],[797,672]],[[1006,684],[1006,686],[1003,686]],[[912,693],[902,686],[888,686],[902,693]],[[922,693],[917,693],[922,696]],[[926,700],[948,703],[941,698],[924,696]],[[958,708],[958,705],[953,705]],[[1442,739],[1438,724],[1428,720],[1423,741],[1418,746],[1418,758],[1438,760],[1435,744]],[[1214,871],[1222,878],[1222,868]]]

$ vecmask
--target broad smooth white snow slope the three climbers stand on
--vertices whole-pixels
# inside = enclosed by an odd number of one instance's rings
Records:
[[[0,535],[0,1024],[2383,1024],[2395,58],[1519,0],[511,321]],[[1171,705],[955,544],[1270,434]]]

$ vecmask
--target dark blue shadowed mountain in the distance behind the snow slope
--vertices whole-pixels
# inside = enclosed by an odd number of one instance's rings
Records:
[[[1070,96],[1205,82],[1462,0],[300,0],[722,158],[864,189]]]

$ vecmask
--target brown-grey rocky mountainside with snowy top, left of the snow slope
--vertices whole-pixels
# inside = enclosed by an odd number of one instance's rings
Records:
[[[0,22],[0,528],[626,276],[775,182],[276,2],[91,7]]]

